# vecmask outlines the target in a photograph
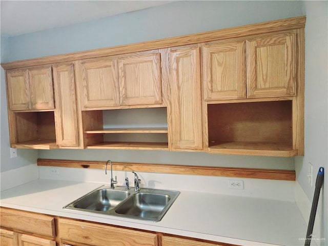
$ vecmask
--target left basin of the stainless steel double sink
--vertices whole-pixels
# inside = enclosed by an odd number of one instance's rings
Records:
[[[71,202],[64,208],[106,212],[116,207],[130,195],[129,191],[111,190],[108,186],[102,186]]]

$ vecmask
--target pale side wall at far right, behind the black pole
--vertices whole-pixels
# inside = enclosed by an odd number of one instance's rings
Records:
[[[297,180],[312,201],[319,167],[325,168],[325,181],[318,206],[321,245],[328,245],[328,2],[304,2],[305,26],[305,154],[297,157]],[[314,185],[308,182],[308,165],[313,165]],[[319,237],[319,235],[315,235]]]

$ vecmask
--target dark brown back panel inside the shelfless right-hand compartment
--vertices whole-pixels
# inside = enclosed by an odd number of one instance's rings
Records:
[[[285,142],[292,149],[291,115],[292,101],[208,105],[209,143]]]

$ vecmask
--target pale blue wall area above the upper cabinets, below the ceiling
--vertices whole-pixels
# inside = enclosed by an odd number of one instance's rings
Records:
[[[131,44],[304,15],[298,1],[177,1],[92,22],[9,38],[19,60]]]

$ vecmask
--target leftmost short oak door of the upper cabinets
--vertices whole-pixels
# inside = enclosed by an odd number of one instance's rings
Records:
[[[30,88],[27,69],[7,71],[7,88],[9,109],[30,109]]]

